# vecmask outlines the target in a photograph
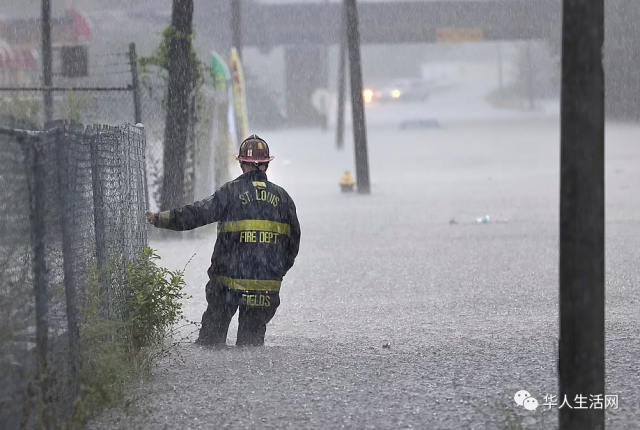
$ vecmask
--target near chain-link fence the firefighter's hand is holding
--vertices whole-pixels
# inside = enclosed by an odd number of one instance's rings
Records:
[[[124,316],[126,265],[147,245],[146,136],[131,125],[2,122],[0,423],[33,428],[45,405],[57,422],[69,417],[95,273],[106,274],[104,314]]]

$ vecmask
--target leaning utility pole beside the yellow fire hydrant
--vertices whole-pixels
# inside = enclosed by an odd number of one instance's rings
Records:
[[[360,31],[356,0],[345,0],[347,15],[347,40],[349,45],[349,74],[351,75],[351,113],[356,158],[356,182],[358,193],[370,194],[369,156],[367,154],[367,127],[362,97],[362,65],[360,61]]]

